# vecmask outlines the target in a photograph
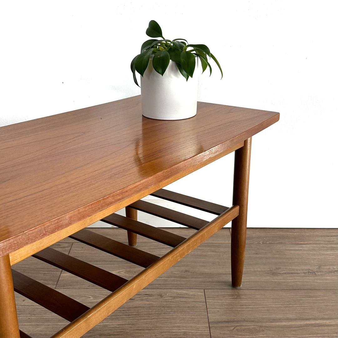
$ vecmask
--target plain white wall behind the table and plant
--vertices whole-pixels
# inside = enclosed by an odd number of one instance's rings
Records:
[[[2,1],[0,125],[139,95],[129,65],[154,19],[218,58],[224,77],[200,76],[199,100],[281,113],[252,141],[248,226],[337,227],[335,13],[325,0]],[[171,188],[229,205],[232,161]]]

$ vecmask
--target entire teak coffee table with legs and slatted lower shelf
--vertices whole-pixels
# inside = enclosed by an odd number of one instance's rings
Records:
[[[232,285],[240,287],[251,137],[278,120],[274,112],[204,102],[192,118],[152,120],[142,117],[135,96],[1,127],[0,336],[29,337],[19,331],[16,291],[70,322],[53,337],[80,337],[230,221]],[[162,189],[232,151],[230,208]],[[149,194],[216,218],[208,222],[140,200]],[[126,217],[114,214],[122,208]],[[137,210],[196,232],[184,238],[141,223]],[[129,245],[84,229],[98,220],[125,229]],[[141,251],[137,235],[172,249],[162,257]],[[128,281],[49,248],[67,236],[144,270]],[[89,308],[11,269],[29,256],[112,293]]]

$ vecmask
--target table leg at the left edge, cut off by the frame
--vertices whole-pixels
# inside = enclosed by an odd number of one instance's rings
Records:
[[[0,337],[20,337],[9,255],[0,257]]]

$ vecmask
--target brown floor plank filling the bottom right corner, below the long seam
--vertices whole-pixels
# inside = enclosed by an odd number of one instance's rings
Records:
[[[337,337],[337,290],[206,290],[213,338]]]

